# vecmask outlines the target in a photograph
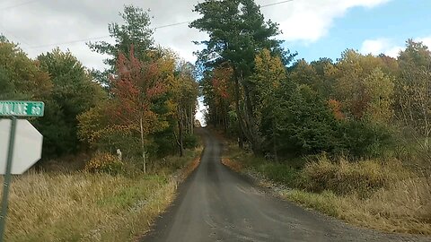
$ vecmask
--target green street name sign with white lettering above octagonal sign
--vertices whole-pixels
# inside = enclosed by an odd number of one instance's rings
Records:
[[[45,104],[41,101],[0,100],[0,116],[43,117]]]

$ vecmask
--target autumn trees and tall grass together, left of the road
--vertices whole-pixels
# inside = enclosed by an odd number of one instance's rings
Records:
[[[13,177],[5,241],[132,241],[196,168],[195,65],[154,42],[142,8],[119,15],[113,41],[87,43],[105,70],[60,48],[31,58],[0,36],[0,99],[45,103],[29,119],[42,160]]]

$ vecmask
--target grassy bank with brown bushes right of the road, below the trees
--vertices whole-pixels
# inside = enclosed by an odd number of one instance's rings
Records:
[[[256,158],[226,143],[222,162],[287,200],[358,226],[431,235],[431,177],[418,176],[400,161],[321,156],[297,169],[297,162]]]

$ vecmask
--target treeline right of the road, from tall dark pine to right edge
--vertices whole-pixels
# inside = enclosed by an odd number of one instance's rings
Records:
[[[274,160],[411,149],[431,159],[431,52],[422,43],[408,40],[397,59],[347,49],[337,61],[293,62],[254,1],[207,1],[195,11],[202,17],[190,26],[210,36],[198,61],[207,122],[240,146]]]

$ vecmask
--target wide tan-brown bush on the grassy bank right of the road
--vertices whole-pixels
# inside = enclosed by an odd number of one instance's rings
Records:
[[[348,162],[343,158],[334,163],[321,156],[317,162],[305,166],[301,172],[300,186],[312,192],[356,193],[364,198],[378,189],[389,187],[394,180],[402,177],[407,177],[407,171],[402,169],[400,163],[384,165],[375,160]]]

